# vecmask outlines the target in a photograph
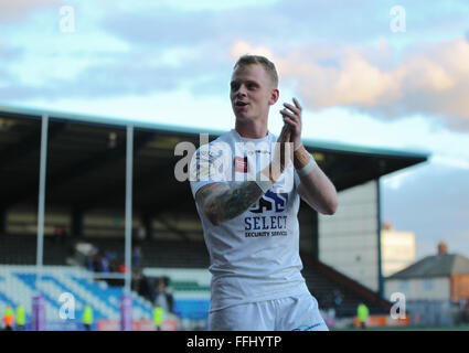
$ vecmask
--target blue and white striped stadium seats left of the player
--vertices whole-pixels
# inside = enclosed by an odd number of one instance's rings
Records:
[[[157,269],[158,270],[158,269]],[[161,269],[161,274],[169,274],[174,293],[174,312],[180,318],[191,320],[206,320],[210,303],[210,274],[206,269],[194,272],[184,269]],[[51,328],[65,330],[74,324],[79,327],[83,308],[90,304],[96,320],[119,320],[120,298],[124,296],[122,287],[109,287],[104,281],[94,281],[89,271],[83,268],[68,266],[44,266],[41,281],[36,281],[34,266],[0,266],[0,312],[7,306],[13,308],[22,304],[26,310],[28,320],[32,314],[32,298],[42,295],[45,298],[46,320]],[[207,277],[209,275],[209,277]],[[180,281],[179,278],[182,278]],[[204,278],[202,285],[191,278]],[[209,279],[207,279],[209,278]],[[57,325],[61,321],[60,310],[64,303],[63,293],[73,293],[75,299],[75,314],[68,322]],[[132,292],[134,320],[151,320],[152,304]]]

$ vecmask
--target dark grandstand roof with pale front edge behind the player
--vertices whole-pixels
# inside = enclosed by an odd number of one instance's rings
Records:
[[[49,116],[46,204],[73,210],[124,210],[126,126],[134,126],[134,208],[143,214],[194,210],[188,182],[178,182],[174,147],[199,133],[225,131],[0,106],[0,207],[35,204],[39,190],[41,117]],[[316,140],[305,146],[338,191],[425,162],[420,152]]]

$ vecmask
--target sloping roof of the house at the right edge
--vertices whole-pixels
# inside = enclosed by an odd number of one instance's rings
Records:
[[[469,275],[469,259],[458,254],[427,256],[387,279],[411,279]]]

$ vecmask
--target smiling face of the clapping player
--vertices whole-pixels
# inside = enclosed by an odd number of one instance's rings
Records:
[[[236,68],[230,85],[232,108],[237,119],[267,119],[269,106],[277,100],[278,89],[262,65]]]

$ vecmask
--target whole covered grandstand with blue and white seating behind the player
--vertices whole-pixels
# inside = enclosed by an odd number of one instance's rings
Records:
[[[90,306],[93,330],[128,330],[122,298],[131,298],[130,330],[204,330],[209,254],[189,182],[174,176],[186,156],[174,151],[223,132],[0,107],[0,311],[23,306],[26,330],[83,330]],[[303,143],[341,205],[332,217],[300,206],[307,285],[330,324],[353,319],[361,302],[386,314],[380,178],[428,156]]]

